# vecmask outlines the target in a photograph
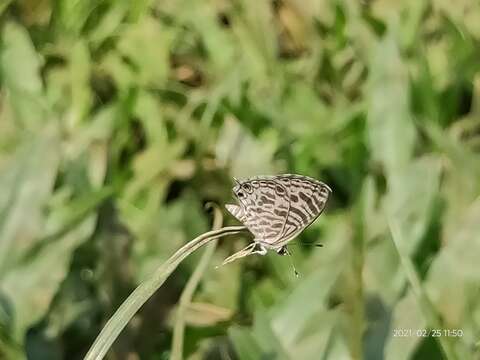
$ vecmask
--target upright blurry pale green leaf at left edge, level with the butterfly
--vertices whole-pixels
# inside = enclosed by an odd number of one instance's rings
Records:
[[[46,129],[25,141],[0,172],[0,277],[40,238],[60,161],[59,138]]]

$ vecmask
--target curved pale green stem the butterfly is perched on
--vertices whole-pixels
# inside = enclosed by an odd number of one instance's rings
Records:
[[[209,231],[181,247],[165,263],[163,263],[151,277],[138,285],[123,304],[120,305],[115,314],[113,314],[103,327],[84,360],[103,359],[108,349],[110,349],[115,339],[133,315],[135,315],[140,307],[155,293],[155,291],[157,291],[173,270],[175,270],[178,264],[180,264],[180,262],[182,262],[188,255],[210,241],[219,239],[222,236],[237,234],[245,229],[245,226],[229,226],[219,230]]]

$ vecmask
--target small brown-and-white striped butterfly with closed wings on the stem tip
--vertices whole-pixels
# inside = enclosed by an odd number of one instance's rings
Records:
[[[254,235],[253,242],[229,256],[222,265],[241,257],[274,250],[289,255],[287,243],[298,236],[325,209],[332,189],[302,175],[283,174],[235,179],[238,205],[226,209]]]

